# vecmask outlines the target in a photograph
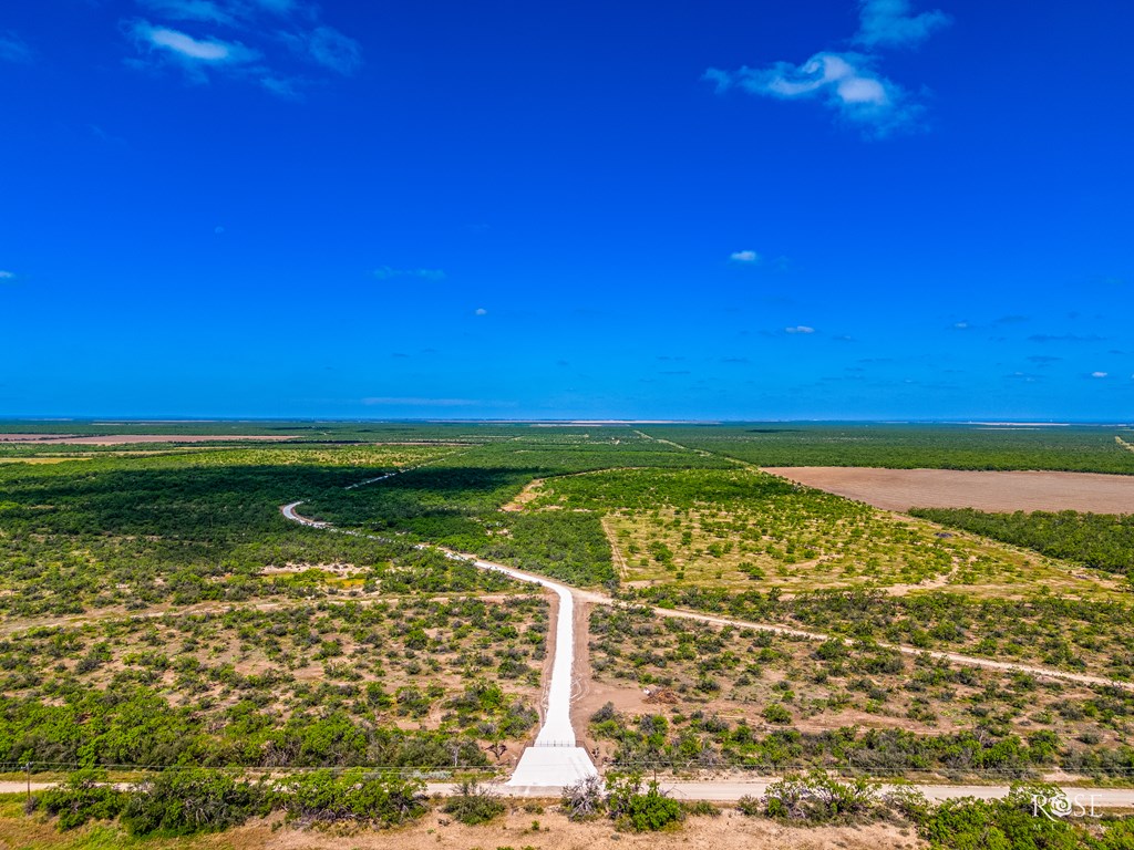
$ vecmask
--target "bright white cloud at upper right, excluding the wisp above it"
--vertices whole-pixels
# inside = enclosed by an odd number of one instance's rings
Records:
[[[803,65],[776,62],[769,68],[737,71],[710,69],[705,78],[718,92],[737,87],[781,101],[819,100],[843,120],[882,137],[916,125],[923,111],[902,86],[873,69],[864,53],[815,53]]]

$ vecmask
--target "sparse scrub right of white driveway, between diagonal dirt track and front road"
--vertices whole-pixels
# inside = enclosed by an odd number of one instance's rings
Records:
[[[645,607],[595,609],[590,632],[594,679],[648,694],[634,713],[591,717],[615,767],[1134,776],[1134,692],[1118,688]]]

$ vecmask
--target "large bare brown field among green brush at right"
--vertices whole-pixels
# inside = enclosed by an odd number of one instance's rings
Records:
[[[865,467],[772,467],[764,471],[892,511],[975,508],[1134,513],[1134,475]]]

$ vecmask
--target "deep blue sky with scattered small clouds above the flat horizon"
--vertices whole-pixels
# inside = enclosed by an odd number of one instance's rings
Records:
[[[1129,419],[1134,6],[0,8],[0,415]]]

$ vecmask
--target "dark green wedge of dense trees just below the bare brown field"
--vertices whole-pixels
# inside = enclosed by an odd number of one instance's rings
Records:
[[[972,508],[916,508],[909,512],[941,525],[1034,549],[1049,558],[1134,576],[1134,515],[984,513]]]

